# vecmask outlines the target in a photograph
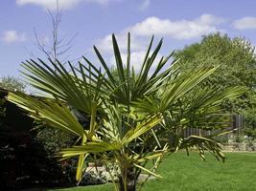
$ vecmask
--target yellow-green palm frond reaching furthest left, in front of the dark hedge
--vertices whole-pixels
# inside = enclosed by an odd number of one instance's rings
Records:
[[[35,98],[22,93],[9,93],[7,99],[28,111],[31,117],[51,127],[82,137],[85,132],[66,104],[50,98]]]

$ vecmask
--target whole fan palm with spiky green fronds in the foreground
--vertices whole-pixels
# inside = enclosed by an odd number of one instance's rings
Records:
[[[112,41],[117,76],[94,47],[104,72],[85,57],[86,64],[79,62],[75,67],[69,63],[70,73],[60,62],[28,60],[22,64],[25,69],[22,73],[43,96],[18,92],[8,96],[8,100],[36,120],[78,137],[76,145],[58,153],[62,159],[79,157],[76,179],[81,180],[85,161],[100,159],[106,170],[109,164],[118,166],[119,186],[113,184],[116,190],[133,191],[141,172],[160,177],[155,174],[159,163],[165,155],[179,149],[196,145],[202,158],[207,149],[217,159],[224,159],[220,145],[213,139],[216,135],[186,138],[182,132],[194,126],[214,129],[216,121],[224,120],[220,116],[221,100],[240,96],[244,88],[221,91],[210,87],[195,95],[198,84],[216,68],[201,69],[189,76],[179,74],[172,68],[177,60],[170,63],[173,53],[162,57],[154,68],[162,40],[151,51],[152,37],[136,73],[130,63],[129,33],[126,64],[114,34]],[[75,113],[88,118],[88,124],[81,125]],[[146,164],[150,160],[153,164],[149,169]]]

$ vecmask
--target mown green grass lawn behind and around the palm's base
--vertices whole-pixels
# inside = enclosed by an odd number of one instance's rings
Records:
[[[177,153],[165,159],[158,173],[164,177],[150,180],[144,191],[256,191],[256,153],[227,153],[225,163],[210,155],[206,161],[193,153]],[[113,185],[73,187],[65,191],[112,191]]]

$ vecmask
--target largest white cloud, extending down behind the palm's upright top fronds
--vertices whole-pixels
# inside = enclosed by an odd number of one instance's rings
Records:
[[[123,31],[116,34],[120,52],[126,61],[127,45],[128,45],[128,32],[131,34],[131,63],[137,71],[145,56],[146,50],[149,46],[151,35],[154,34],[158,39],[164,37],[168,39],[193,39],[200,37],[203,34],[210,32],[223,32],[218,26],[224,20],[220,17],[211,14],[202,14],[194,20],[170,20],[160,19],[157,17],[149,17],[140,23],[130,26]],[[155,40],[157,42],[157,40]],[[97,48],[101,53],[108,56],[108,63],[114,63],[114,56],[112,48],[111,34],[106,35],[103,39],[96,42]],[[160,59],[160,54],[156,60]],[[155,66],[157,62],[153,64]]]

